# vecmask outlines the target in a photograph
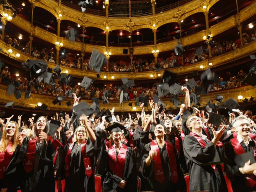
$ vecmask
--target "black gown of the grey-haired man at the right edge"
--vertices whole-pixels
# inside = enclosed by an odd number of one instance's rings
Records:
[[[252,153],[252,156],[254,156],[255,143],[252,140],[249,141],[248,146],[246,146],[244,143],[240,144],[246,153]],[[224,171],[226,172],[227,177],[231,181],[233,192],[255,191],[256,186],[250,188],[248,185],[245,184],[244,175],[240,173],[239,167],[234,161],[235,156],[236,155],[233,150],[231,141],[226,142],[223,147],[222,157],[224,161]]]

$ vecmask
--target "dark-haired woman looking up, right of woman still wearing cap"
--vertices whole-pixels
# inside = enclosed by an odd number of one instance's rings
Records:
[[[158,124],[154,130],[156,140],[145,145],[142,174],[157,192],[186,191],[184,175],[180,169],[175,147],[164,140],[167,128]]]

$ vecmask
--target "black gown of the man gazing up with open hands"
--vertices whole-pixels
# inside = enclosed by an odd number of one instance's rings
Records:
[[[201,147],[196,138],[187,135],[183,140],[184,156],[189,171],[189,192],[227,191],[218,151],[213,142],[205,141],[206,147]],[[216,165],[216,171],[211,165]]]

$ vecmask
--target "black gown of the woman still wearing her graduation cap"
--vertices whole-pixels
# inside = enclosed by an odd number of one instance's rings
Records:
[[[114,147],[114,145],[113,145]],[[123,144],[122,144],[123,147]],[[101,176],[101,185],[103,192],[113,192],[116,190],[117,192],[131,192],[137,191],[137,171],[136,171],[136,158],[134,150],[130,147],[126,149],[125,156],[125,165],[123,170],[122,177],[113,174],[109,165],[109,150],[107,149],[103,155],[105,165],[105,173]],[[114,147],[115,150],[115,147]],[[116,160],[118,158],[118,153],[116,152]],[[126,181],[125,187],[122,189],[119,187],[119,183],[124,180]]]

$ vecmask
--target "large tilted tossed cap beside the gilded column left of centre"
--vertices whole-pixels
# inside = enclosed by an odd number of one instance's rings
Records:
[[[89,68],[93,68],[94,71],[100,72],[102,66],[107,64],[106,56],[96,49],[93,49],[92,55],[89,61]]]

